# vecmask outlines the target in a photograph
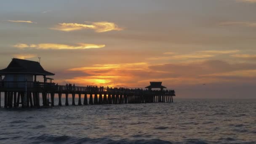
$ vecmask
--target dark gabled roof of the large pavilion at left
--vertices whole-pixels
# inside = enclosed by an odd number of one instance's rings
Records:
[[[33,75],[55,75],[43,69],[37,61],[13,58],[6,69],[0,70],[0,75],[5,74],[33,74]]]

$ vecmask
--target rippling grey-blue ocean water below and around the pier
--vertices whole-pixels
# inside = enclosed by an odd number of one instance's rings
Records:
[[[1,108],[0,144],[256,144],[256,99]]]

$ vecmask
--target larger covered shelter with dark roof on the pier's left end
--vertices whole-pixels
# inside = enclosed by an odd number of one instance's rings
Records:
[[[47,75],[55,75],[46,71],[37,61],[29,61],[24,59],[13,58],[7,68],[0,70],[0,76],[4,75],[5,82],[33,82],[37,81],[37,76],[43,76],[46,83]],[[33,78],[34,77],[34,78]]]

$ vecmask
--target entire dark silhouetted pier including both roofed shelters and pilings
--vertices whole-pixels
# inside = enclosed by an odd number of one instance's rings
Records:
[[[141,103],[172,103],[174,90],[166,90],[162,82],[150,82],[147,89],[141,88],[109,88],[104,86],[56,85],[52,78],[55,75],[43,69],[37,61],[12,59],[6,69],[0,70],[0,100],[4,93],[4,107],[54,107],[55,94],[66,97],[65,105],[69,105],[68,96],[72,95],[72,105],[88,104],[141,104]],[[5,76],[2,80],[2,76]],[[37,76],[43,76],[43,82],[37,81]],[[48,82],[48,80],[50,82]],[[159,90],[155,90],[159,89]],[[48,99],[50,94],[51,99]],[[78,95],[78,104],[75,104],[75,95]],[[83,103],[82,103],[83,97]],[[89,100],[88,100],[89,97]],[[1,101],[0,101],[1,104]],[[1,107],[1,105],[0,105]]]

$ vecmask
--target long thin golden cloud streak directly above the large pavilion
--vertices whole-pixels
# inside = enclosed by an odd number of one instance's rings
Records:
[[[88,43],[79,43],[77,45],[64,45],[64,44],[56,44],[56,43],[40,43],[40,44],[24,44],[19,43],[13,45],[16,48],[36,48],[36,49],[89,49],[89,48],[103,48],[106,45],[97,45],[97,44],[88,44]]]

